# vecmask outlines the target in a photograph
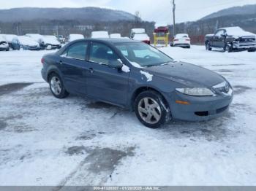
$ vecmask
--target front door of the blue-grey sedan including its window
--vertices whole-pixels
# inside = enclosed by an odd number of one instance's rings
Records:
[[[101,42],[91,42],[87,93],[91,98],[125,106],[130,73],[108,66],[111,61],[121,61],[113,49]]]

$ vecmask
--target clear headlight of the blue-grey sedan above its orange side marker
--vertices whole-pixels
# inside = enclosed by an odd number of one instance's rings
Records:
[[[208,96],[214,95],[214,93],[205,87],[193,87],[193,88],[176,88],[176,90],[180,93],[184,93],[187,95],[193,96]]]

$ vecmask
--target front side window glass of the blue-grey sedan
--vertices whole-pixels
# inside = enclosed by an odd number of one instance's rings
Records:
[[[89,61],[109,65],[110,61],[118,61],[118,55],[105,44],[93,42],[91,44]]]

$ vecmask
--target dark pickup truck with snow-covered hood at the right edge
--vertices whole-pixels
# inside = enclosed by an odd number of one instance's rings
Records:
[[[219,28],[215,34],[206,35],[206,50],[211,50],[212,47],[217,47],[223,48],[223,50],[227,52],[233,52],[235,50],[255,52],[255,38],[256,34],[244,31],[238,26]]]

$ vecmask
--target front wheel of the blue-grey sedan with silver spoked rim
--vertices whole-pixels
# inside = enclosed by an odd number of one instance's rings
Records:
[[[135,113],[143,125],[148,128],[160,128],[170,120],[170,109],[164,98],[157,92],[146,91],[135,99]]]

